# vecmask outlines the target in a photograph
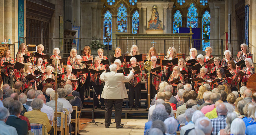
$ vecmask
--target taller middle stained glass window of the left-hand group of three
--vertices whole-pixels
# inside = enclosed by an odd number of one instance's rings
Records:
[[[117,19],[116,19],[117,31],[126,32],[127,31],[127,8],[123,3],[117,9]]]

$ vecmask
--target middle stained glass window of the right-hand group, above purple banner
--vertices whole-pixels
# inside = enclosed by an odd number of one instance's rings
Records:
[[[197,28],[197,8],[194,3],[190,4],[187,13],[187,28],[191,26],[192,28]]]

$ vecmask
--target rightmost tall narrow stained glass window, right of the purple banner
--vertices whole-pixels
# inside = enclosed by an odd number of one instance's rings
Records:
[[[202,33],[202,50],[204,51],[206,47],[210,46],[210,22],[211,22],[211,15],[209,12],[206,10],[203,14],[203,19],[202,19],[202,28],[203,28],[203,33]]]

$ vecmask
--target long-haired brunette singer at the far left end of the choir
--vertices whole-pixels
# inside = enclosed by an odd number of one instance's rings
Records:
[[[1,76],[3,79],[3,85],[7,83],[10,85],[10,88],[12,88],[13,76],[14,76],[13,66],[3,65],[4,62],[14,64],[14,59],[11,58],[10,56],[11,56],[11,50],[9,49],[4,50],[4,54],[3,54],[3,57],[1,58],[0,64],[1,64]]]

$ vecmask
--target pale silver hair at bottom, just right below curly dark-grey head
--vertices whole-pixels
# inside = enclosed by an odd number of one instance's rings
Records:
[[[169,118],[165,119],[164,124],[166,126],[165,133],[168,133],[168,134],[176,133],[177,128],[178,128],[178,122],[175,118],[169,117]]]

